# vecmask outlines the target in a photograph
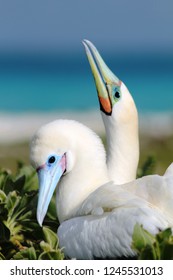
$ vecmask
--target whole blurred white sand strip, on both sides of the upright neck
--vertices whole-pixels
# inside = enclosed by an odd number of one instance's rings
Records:
[[[0,144],[28,141],[43,124],[55,119],[74,119],[82,122],[97,134],[104,134],[99,111],[0,113]],[[145,113],[139,115],[140,134],[160,138],[173,134],[173,113]]]

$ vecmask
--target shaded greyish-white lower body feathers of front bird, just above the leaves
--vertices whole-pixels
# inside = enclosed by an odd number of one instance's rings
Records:
[[[120,207],[102,215],[74,217],[58,228],[60,247],[77,259],[130,257],[135,224],[156,234],[167,223],[158,212],[146,207]]]

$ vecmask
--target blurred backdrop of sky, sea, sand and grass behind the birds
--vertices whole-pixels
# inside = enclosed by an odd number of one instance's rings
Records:
[[[139,112],[141,157],[173,161],[172,0],[0,0],[0,167],[29,162],[43,123],[72,118],[104,138],[83,39],[127,85]]]

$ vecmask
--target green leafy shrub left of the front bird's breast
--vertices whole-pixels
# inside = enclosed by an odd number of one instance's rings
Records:
[[[58,248],[55,197],[44,227],[36,221],[38,182],[30,166],[19,164],[13,176],[0,172],[0,259],[63,259]]]

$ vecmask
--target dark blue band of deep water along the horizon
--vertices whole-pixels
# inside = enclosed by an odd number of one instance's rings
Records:
[[[117,66],[118,69],[130,69],[131,71],[149,70],[151,67],[155,71],[160,71],[159,67],[164,67],[165,71],[172,71],[173,53],[107,53],[103,52],[105,62],[110,66]],[[81,67],[83,65],[83,67]],[[0,71],[22,69],[22,71],[88,71],[87,60],[84,50],[79,53],[6,53],[0,52]],[[150,66],[150,68],[148,68]]]

